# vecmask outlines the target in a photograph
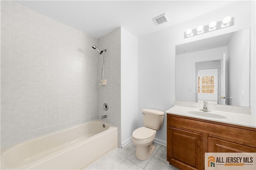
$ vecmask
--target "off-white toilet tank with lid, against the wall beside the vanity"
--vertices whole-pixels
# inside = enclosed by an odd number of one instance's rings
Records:
[[[158,130],[164,122],[164,112],[154,109],[142,109],[144,127]]]

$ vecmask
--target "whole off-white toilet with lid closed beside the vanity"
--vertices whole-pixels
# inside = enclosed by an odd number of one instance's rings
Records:
[[[153,140],[156,130],[162,128],[164,112],[154,109],[142,109],[144,127],[132,132],[132,142],[136,145],[136,158],[146,160],[154,152],[156,147]]]

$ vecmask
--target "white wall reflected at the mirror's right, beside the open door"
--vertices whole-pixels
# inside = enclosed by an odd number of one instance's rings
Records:
[[[250,29],[234,32],[228,43],[228,97],[232,106],[249,107]]]

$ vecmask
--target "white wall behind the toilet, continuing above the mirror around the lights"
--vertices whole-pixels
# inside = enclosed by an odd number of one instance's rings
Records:
[[[142,116],[140,115],[141,109],[153,108],[166,111],[174,105],[175,45],[252,27],[251,10],[252,4],[254,3],[255,2],[240,1],[225,8],[205,14],[204,16],[188,20],[187,22],[139,38],[138,127],[143,126]],[[184,39],[183,36],[186,29],[193,29],[198,25],[207,25],[212,20],[220,21],[225,16],[234,17],[234,26]],[[252,47],[255,48],[255,46]],[[251,57],[255,58],[255,53]],[[252,67],[255,67],[255,59],[251,64]],[[251,77],[255,77],[255,70],[251,74]],[[255,92],[255,81],[252,82],[251,88],[252,91]],[[251,94],[251,96],[255,96],[255,93]],[[251,103],[251,107],[252,111],[255,111],[255,103]],[[252,114],[255,115],[255,113]],[[166,119],[164,120],[162,129],[158,130],[156,134],[156,141],[162,142],[163,144],[166,143]]]

